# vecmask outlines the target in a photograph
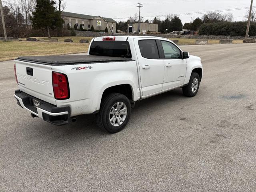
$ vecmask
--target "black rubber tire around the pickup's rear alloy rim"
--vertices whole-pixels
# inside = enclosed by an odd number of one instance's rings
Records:
[[[123,102],[127,108],[127,115],[122,124],[119,126],[113,126],[110,123],[110,110],[114,104],[117,102]],[[100,105],[100,112],[96,114],[96,123],[98,126],[107,132],[116,133],[121,131],[125,128],[126,124],[128,123],[131,115],[131,103],[130,100],[123,94],[120,93],[110,93],[105,96],[102,100]]]

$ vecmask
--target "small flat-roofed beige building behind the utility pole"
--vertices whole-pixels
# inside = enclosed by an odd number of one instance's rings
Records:
[[[138,23],[128,24],[127,32],[138,32]],[[140,23],[140,32],[158,32],[158,24],[153,23]]]

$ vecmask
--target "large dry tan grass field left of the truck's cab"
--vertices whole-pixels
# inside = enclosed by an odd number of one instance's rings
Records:
[[[87,52],[89,43],[64,42],[0,42],[0,61],[18,56],[62,55]]]

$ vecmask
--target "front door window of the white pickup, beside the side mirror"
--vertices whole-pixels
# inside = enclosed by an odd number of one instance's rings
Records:
[[[164,50],[164,58],[181,58],[180,50],[171,42],[161,41],[163,50]]]

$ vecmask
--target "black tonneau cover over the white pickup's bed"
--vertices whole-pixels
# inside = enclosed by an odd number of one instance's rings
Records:
[[[34,62],[46,65],[70,65],[78,63],[102,63],[132,61],[132,58],[106,57],[96,55],[51,55],[51,56],[24,56],[16,60]]]

